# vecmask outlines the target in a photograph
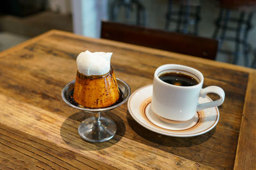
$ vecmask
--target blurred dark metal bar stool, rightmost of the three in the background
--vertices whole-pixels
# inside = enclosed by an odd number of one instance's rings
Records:
[[[216,27],[212,38],[220,41],[219,52],[234,55],[233,64],[237,64],[239,57],[243,56],[244,66],[249,67],[248,53],[252,50],[252,46],[248,43],[248,33],[252,29],[254,11],[246,10],[244,6],[232,6],[225,1],[220,1],[220,6],[220,13],[215,22]],[[238,13],[239,17],[232,17],[233,13]],[[235,24],[236,26],[228,24]],[[226,36],[229,32],[235,32],[236,35]],[[233,41],[235,43],[234,50],[221,49],[223,41]]]

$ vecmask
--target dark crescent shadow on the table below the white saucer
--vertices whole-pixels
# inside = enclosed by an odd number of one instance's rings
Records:
[[[147,139],[147,141],[143,140],[145,145],[150,145],[150,142],[156,143],[159,145],[164,146],[170,146],[170,147],[189,147],[189,146],[195,146],[200,145],[201,143],[204,143],[207,141],[216,131],[215,127],[211,131],[202,134],[200,136],[193,136],[193,137],[187,137],[187,138],[180,138],[180,137],[172,137],[172,136],[164,136],[162,134],[158,134],[153,131],[149,131],[142,125],[138,124],[130,115],[130,113],[127,111],[127,121],[128,124],[131,126],[131,128],[142,138]],[[142,141],[142,143],[143,143]],[[140,141],[141,142],[141,141]],[[157,146],[157,147],[158,147]],[[155,147],[155,146],[154,146]]]

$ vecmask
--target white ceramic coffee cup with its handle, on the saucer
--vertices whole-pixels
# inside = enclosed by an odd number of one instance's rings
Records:
[[[177,86],[166,83],[159,78],[164,73],[179,72],[195,78],[198,84],[192,86]],[[220,106],[225,99],[225,92],[217,86],[202,89],[203,74],[188,66],[179,64],[165,64],[156,69],[152,94],[152,111],[159,117],[173,120],[186,121],[193,118],[196,111]],[[198,104],[199,97],[206,97],[208,93],[220,96],[220,99],[209,103]]]

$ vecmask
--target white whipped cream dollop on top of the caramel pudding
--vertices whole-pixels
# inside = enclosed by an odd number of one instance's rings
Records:
[[[86,50],[77,56],[77,69],[86,76],[106,74],[110,70],[111,56],[111,52],[89,52]]]

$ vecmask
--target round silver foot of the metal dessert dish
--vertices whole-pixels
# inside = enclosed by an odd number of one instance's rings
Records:
[[[81,122],[78,133],[85,141],[100,143],[115,136],[116,124],[106,117],[100,117],[100,122],[97,122],[94,117],[90,117]]]

